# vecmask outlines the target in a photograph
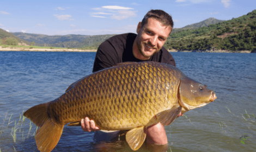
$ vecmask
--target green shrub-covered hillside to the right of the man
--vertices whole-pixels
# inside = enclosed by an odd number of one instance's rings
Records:
[[[170,34],[164,47],[178,50],[256,49],[256,10],[229,21]]]

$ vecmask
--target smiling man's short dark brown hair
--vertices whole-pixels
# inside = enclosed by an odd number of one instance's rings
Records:
[[[148,18],[155,18],[161,22],[164,26],[170,26],[173,30],[173,19],[167,12],[163,10],[150,10],[142,20],[142,27],[148,22]]]

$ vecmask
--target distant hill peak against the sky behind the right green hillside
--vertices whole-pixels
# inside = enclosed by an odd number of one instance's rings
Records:
[[[190,25],[187,25],[183,28],[174,28],[173,31],[172,31],[172,34],[177,32],[177,31],[182,31],[182,30],[187,30],[187,29],[198,29],[198,28],[201,28],[201,27],[208,27],[210,26],[210,24],[216,24],[216,23],[220,23],[220,22],[224,22],[223,20],[217,20],[216,18],[214,17],[211,17],[211,18],[208,18],[202,22],[198,22],[198,23],[193,23],[193,24],[190,24]]]

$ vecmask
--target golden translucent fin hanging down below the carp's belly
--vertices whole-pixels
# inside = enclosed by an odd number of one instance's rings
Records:
[[[139,128],[133,128],[126,133],[126,141],[130,145],[132,150],[138,150],[146,138],[146,128],[141,126]]]

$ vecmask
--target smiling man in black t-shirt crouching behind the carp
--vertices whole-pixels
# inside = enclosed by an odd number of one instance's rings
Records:
[[[128,61],[156,61],[176,66],[173,56],[162,47],[172,29],[173,20],[169,14],[162,10],[150,10],[142,22],[138,23],[138,35],[115,35],[101,43],[95,56],[93,72]],[[181,115],[182,113],[179,114]],[[100,130],[94,121],[87,117],[81,120],[81,127],[89,132]],[[159,145],[168,143],[166,131],[161,123],[147,128],[146,142]]]

